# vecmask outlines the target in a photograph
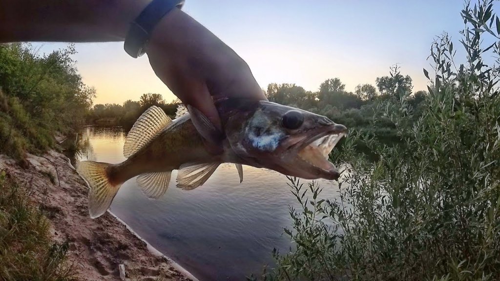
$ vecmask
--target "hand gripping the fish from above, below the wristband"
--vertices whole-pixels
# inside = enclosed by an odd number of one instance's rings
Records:
[[[219,130],[212,97],[267,100],[246,62],[179,9],[170,11],[155,26],[146,53],[154,72],[168,88]]]

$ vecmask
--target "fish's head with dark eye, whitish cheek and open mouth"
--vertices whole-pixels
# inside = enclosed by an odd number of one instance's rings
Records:
[[[225,124],[225,134],[243,164],[305,179],[339,177],[328,155],[346,133],[344,125],[266,100],[233,111]]]

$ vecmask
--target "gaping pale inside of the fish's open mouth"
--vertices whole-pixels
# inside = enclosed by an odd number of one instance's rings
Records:
[[[338,169],[328,161],[331,150],[345,132],[317,135],[297,152],[297,157],[309,165],[319,168],[321,173],[328,174],[330,178],[338,178]]]

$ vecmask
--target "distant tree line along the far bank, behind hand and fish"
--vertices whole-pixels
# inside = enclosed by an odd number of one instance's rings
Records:
[[[394,65],[390,75],[376,78],[375,86],[359,84],[354,92],[345,90],[339,78],[326,79],[317,91],[307,91],[290,83],[270,83],[265,94],[270,101],[290,105],[314,113],[325,115],[349,128],[362,128],[368,133],[386,140],[397,139],[394,125],[390,122],[374,122],[373,111],[381,102],[399,99],[401,94],[409,95],[409,104],[416,110],[416,117],[427,91],[412,92],[413,85],[409,75],[400,73]],[[149,106],[161,107],[167,115],[174,116],[180,100],[165,102],[158,93],[142,94],[138,101],[127,100],[123,104],[96,104],[87,115],[89,124],[120,125],[126,130]]]

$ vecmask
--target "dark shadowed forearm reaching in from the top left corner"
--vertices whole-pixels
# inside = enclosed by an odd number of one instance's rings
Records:
[[[150,0],[0,0],[0,43],[122,41]]]

